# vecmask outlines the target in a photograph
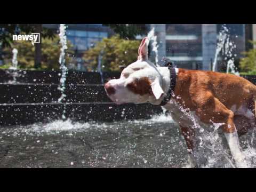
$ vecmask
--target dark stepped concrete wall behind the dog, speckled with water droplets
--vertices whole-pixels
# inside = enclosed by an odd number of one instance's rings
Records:
[[[150,104],[116,105],[106,95],[99,73],[68,71],[65,94],[58,103],[60,71],[20,70],[17,83],[13,71],[0,70],[0,126],[50,122],[65,116],[74,121],[120,121],[150,118],[162,108]],[[119,73],[104,73],[105,79],[119,77]]]

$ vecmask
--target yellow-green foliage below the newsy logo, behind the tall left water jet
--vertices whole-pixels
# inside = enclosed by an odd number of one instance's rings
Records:
[[[58,35],[54,35],[52,38],[42,38],[42,69],[59,69],[59,56],[60,56],[60,38]],[[12,49],[18,50],[18,67],[19,68],[35,68],[34,67],[34,55],[35,46],[29,41],[17,41],[12,44],[11,47],[5,47],[3,52],[5,53],[5,59],[9,61],[6,65],[11,65]],[[66,50],[66,63],[70,61],[70,56],[74,54],[72,44],[68,41],[68,49]]]

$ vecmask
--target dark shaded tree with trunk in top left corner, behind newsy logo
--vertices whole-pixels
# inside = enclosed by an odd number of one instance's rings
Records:
[[[42,24],[0,24],[0,45],[2,49],[4,47],[12,46],[12,35],[18,35],[21,33],[40,33],[40,42],[42,37],[53,38],[55,31],[52,29],[44,28]],[[40,68],[42,61],[42,44],[35,44],[34,52],[34,67]]]

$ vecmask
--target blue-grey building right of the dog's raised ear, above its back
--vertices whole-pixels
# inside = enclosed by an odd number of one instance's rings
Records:
[[[242,57],[246,50],[245,24],[227,24],[230,41],[236,45],[233,55]],[[180,68],[211,70],[221,24],[151,24],[158,37],[158,61],[162,56],[172,60]],[[165,37],[164,37],[165,36]],[[163,49],[165,47],[165,49]],[[219,55],[220,56],[220,55]],[[221,57],[218,57],[218,62]],[[222,63],[223,65],[223,63]],[[220,68],[220,67],[219,67]]]

